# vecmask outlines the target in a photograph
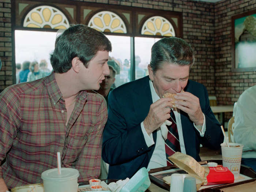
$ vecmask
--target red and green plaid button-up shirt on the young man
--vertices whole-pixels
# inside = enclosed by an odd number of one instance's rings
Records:
[[[54,73],[0,94],[0,161],[6,157],[0,178],[8,188],[41,183],[41,173],[57,167],[57,152],[62,167],[79,170],[78,182],[99,176],[106,102],[87,91],[76,99],[66,126],[67,109]]]

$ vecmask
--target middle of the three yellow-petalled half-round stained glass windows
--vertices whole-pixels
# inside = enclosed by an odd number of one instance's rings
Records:
[[[90,19],[88,26],[102,32],[127,33],[123,20],[110,11],[101,11],[95,14]]]

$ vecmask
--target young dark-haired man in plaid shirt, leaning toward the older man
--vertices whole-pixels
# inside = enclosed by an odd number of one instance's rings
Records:
[[[99,84],[109,75],[112,46],[90,27],[74,25],[59,35],[45,78],[15,84],[0,94],[0,192],[40,183],[41,173],[61,166],[79,170],[78,182],[100,173],[107,106]]]

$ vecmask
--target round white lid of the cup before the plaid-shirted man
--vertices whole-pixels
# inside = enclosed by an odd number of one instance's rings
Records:
[[[56,181],[66,181],[76,179],[79,176],[77,169],[61,167],[61,174],[59,174],[58,169],[48,169],[41,174],[43,180],[56,180]]]

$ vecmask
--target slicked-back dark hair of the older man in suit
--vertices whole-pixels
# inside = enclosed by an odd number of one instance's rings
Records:
[[[151,48],[150,67],[153,72],[162,68],[162,65],[165,63],[190,65],[192,67],[194,62],[193,49],[181,38],[162,38]]]

